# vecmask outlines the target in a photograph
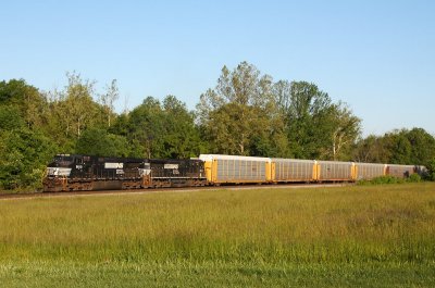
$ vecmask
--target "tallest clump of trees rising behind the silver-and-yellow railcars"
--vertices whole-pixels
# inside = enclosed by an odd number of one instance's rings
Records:
[[[197,105],[210,152],[350,160],[360,120],[307,82],[278,80],[241,62],[226,66]]]

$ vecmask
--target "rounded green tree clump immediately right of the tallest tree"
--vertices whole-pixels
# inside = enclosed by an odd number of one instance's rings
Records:
[[[361,120],[345,103],[333,103],[312,83],[294,82],[286,115],[288,141],[296,158],[350,160]]]

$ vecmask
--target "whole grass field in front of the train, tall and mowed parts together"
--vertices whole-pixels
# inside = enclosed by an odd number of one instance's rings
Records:
[[[0,287],[435,287],[435,184],[0,201]]]

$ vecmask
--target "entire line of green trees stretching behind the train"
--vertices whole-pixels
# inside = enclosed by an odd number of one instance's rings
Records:
[[[38,188],[55,153],[190,158],[200,153],[419,164],[435,167],[421,128],[361,136],[361,120],[308,82],[277,80],[254,65],[224,66],[195,111],[175,96],[115,113],[120,91],[77,73],[62,89],[0,82],[0,189]]]

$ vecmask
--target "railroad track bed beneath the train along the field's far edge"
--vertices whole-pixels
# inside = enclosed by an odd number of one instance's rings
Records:
[[[32,193],[0,193],[0,200],[8,199],[29,199],[29,198],[52,198],[52,197],[75,197],[75,196],[107,196],[107,195],[142,195],[159,192],[194,192],[201,190],[243,190],[243,189],[284,189],[284,188],[325,188],[341,187],[353,185],[349,183],[340,184],[278,184],[278,185],[241,185],[241,186],[209,186],[209,187],[182,187],[182,188],[153,188],[153,189],[133,189],[133,190],[98,190],[98,191],[69,191],[69,192],[32,192]]]

